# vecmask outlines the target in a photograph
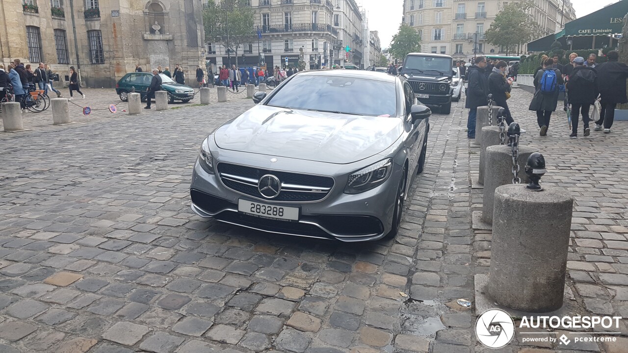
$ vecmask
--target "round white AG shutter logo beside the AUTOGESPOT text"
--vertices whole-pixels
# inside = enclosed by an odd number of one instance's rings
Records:
[[[489,309],[475,322],[475,337],[489,348],[501,348],[514,336],[514,322],[504,310]]]

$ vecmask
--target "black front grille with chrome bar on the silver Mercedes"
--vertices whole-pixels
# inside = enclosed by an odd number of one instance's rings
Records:
[[[278,202],[313,202],[327,197],[333,187],[333,178],[329,176],[290,173],[251,166],[219,163],[220,180],[231,190],[244,195],[266,200],[259,193],[257,182],[266,174],[276,176],[281,182],[281,192],[272,201]]]

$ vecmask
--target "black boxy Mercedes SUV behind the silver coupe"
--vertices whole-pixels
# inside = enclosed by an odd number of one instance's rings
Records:
[[[408,79],[414,95],[426,106],[439,106],[441,114],[452,110],[452,65],[449,55],[409,53],[401,75]]]

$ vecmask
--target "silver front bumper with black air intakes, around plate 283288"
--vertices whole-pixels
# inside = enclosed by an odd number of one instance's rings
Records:
[[[230,153],[232,155],[240,154],[234,151],[230,151]],[[250,156],[251,154],[246,155]],[[268,160],[270,157],[263,159]],[[290,163],[286,159],[282,158],[284,162]],[[326,163],[311,162],[313,170],[320,167],[317,164]],[[325,169],[318,168],[318,170]],[[394,197],[400,173],[401,167],[394,165],[393,174],[386,182],[379,187],[357,195],[345,194],[343,191],[346,180],[337,180],[328,197],[318,202],[264,202],[285,207],[299,207],[300,217],[298,221],[286,221],[266,219],[238,212],[237,203],[239,199],[261,201],[225,187],[218,175],[207,173],[197,161],[190,185],[192,210],[200,217],[211,217],[220,222],[263,232],[317,239],[335,239],[344,242],[374,241],[381,239],[390,231],[393,221]],[[330,175],[333,176],[333,173]]]

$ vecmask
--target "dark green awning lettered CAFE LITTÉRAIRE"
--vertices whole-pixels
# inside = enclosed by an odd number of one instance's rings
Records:
[[[622,33],[624,16],[628,13],[628,0],[599,9],[587,16],[565,23],[561,36],[598,36]],[[557,36],[556,38],[560,38]]]

